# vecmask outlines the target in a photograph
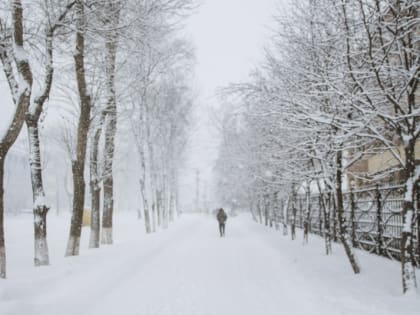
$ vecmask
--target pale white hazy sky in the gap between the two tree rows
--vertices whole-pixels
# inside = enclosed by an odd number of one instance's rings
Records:
[[[262,59],[270,37],[273,15],[285,0],[202,0],[188,21],[187,33],[195,46],[199,106],[197,130],[192,138],[183,197],[194,200],[196,169],[200,170],[201,191],[210,193],[211,170],[217,157],[218,135],[209,113],[218,107],[218,87],[246,80]],[[281,8],[280,8],[281,9]]]

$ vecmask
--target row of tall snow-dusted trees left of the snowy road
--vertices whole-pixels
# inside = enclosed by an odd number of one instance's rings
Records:
[[[54,135],[69,154],[73,179],[65,255],[79,254],[87,173],[92,207],[89,246],[113,242],[118,130],[132,132],[127,137],[135,139],[138,149],[142,168],[137,175],[142,179],[139,191],[147,232],[166,227],[173,219],[178,169],[193,105],[193,54],[179,30],[193,8],[191,0],[12,0],[0,4],[0,58],[14,103],[8,125],[0,133],[1,278],[6,277],[5,158],[24,124],[34,201],[34,264],[49,264],[49,206],[41,163],[41,152],[48,151],[48,146],[42,147],[43,138],[48,135],[40,134],[40,118],[47,102],[66,106],[63,98],[50,97],[54,89],[57,94],[68,93],[67,98],[77,104],[76,117],[67,115],[66,122],[56,126],[55,132],[62,136]]]

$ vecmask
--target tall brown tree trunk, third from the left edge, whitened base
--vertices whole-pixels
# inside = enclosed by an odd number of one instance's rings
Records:
[[[80,116],[77,127],[76,157],[72,161],[73,172],[73,213],[71,218],[70,236],[65,256],[79,255],[80,236],[82,234],[83,207],[85,201],[85,159],[87,136],[90,124],[91,99],[87,92],[85,77],[85,13],[82,0],[76,1],[76,50],[74,63],[76,82],[80,99]]]

